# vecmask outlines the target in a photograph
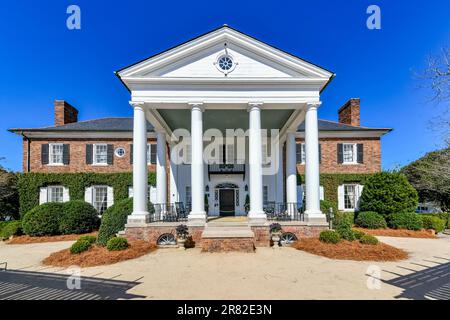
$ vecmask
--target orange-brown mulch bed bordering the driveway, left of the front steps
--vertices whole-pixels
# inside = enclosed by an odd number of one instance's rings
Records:
[[[69,249],[52,253],[42,263],[55,267],[95,267],[108,265],[120,261],[135,259],[146,255],[154,250],[156,246],[146,241],[130,241],[130,247],[122,251],[108,251],[106,247],[93,245],[88,251],[71,254]]]

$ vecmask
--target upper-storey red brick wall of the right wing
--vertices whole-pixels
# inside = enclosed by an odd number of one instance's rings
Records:
[[[297,139],[297,143],[304,142]],[[364,145],[364,163],[338,164],[338,143],[361,143]],[[381,171],[381,141],[379,138],[323,138],[320,139],[322,161],[321,173],[375,173]],[[305,166],[297,164],[299,173],[305,172]]]

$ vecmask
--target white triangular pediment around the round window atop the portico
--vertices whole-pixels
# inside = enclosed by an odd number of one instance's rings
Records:
[[[220,58],[232,68],[220,68]],[[326,79],[333,73],[224,26],[118,71],[121,78]]]

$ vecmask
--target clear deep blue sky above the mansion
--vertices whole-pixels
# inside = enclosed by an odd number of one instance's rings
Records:
[[[66,8],[81,8],[81,30],[66,28]],[[366,28],[366,8],[381,8],[382,29]],[[131,116],[129,93],[113,71],[224,23],[334,71],[319,116],[336,120],[361,98],[362,125],[392,127],[383,168],[439,147],[429,129],[439,108],[418,89],[414,70],[450,46],[449,1],[2,1],[0,4],[0,157],[21,169],[21,139],[6,130],[53,124],[53,100],[80,119]]]

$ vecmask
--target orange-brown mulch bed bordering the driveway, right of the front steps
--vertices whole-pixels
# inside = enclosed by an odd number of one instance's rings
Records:
[[[298,240],[294,248],[319,256],[338,260],[355,261],[399,261],[408,258],[408,253],[385,243],[361,244],[359,241],[340,241],[338,244],[323,243],[317,238]]]

